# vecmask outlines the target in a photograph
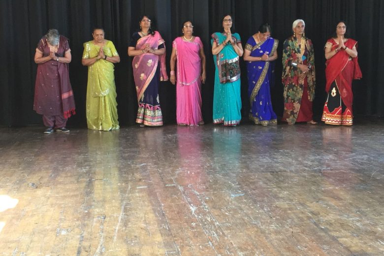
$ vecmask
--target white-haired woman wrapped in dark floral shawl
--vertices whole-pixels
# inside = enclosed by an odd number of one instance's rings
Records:
[[[295,20],[293,35],[283,45],[284,113],[289,125],[313,121],[312,104],[315,98],[315,55],[312,41],[305,37],[305,23]]]

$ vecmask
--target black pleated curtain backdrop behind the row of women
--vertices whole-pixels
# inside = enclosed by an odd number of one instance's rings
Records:
[[[272,26],[272,36],[280,40],[276,61],[276,84],[271,89],[275,112],[283,112],[281,55],[285,38],[292,34],[291,24],[301,18],[305,33],[315,46],[317,88],[314,114],[320,118],[325,99],[325,41],[335,31],[336,22],[345,20],[347,32],[358,43],[363,79],[353,83],[354,114],[384,116],[384,1],[382,0],[0,0],[0,125],[42,124],[32,110],[37,65],[33,62],[38,40],[48,29],[56,28],[69,38],[72,50],[70,79],[75,94],[76,115],[68,126],[85,126],[85,99],[88,69],[81,65],[83,43],[92,39],[92,28],[102,26],[105,38],[112,40],[121,62],[115,64],[118,113],[121,126],[133,125],[137,100],[132,76],[132,59],[127,55],[128,41],[138,29],[138,18],[147,14],[166,41],[167,67],[172,40],[181,35],[183,21],[192,20],[194,34],[201,37],[207,57],[207,80],[202,88],[203,117],[212,121],[214,62],[210,34],[221,27],[224,13],[232,13],[234,30],[243,45],[263,22]],[[246,67],[242,64],[243,120],[247,120]],[[160,86],[164,123],[176,121],[175,87]]]

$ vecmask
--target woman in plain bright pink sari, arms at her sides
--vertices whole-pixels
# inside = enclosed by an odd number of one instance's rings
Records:
[[[203,43],[193,36],[191,21],[183,23],[183,36],[172,45],[171,83],[177,83],[176,120],[179,126],[204,125],[201,115],[201,83],[205,83],[205,54]],[[177,79],[175,63],[177,60]]]

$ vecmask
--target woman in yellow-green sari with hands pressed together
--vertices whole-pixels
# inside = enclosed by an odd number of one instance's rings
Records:
[[[119,129],[114,63],[120,62],[112,41],[104,39],[104,30],[92,32],[94,40],[84,43],[81,63],[88,66],[87,125],[94,130]]]

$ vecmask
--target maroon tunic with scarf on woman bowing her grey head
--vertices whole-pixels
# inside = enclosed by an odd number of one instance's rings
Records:
[[[37,50],[43,57],[49,56],[51,51],[46,36],[40,39]],[[70,51],[68,39],[60,35],[56,56],[64,57],[67,51]],[[67,63],[49,60],[37,65],[33,110],[41,115],[63,116],[64,119],[75,114],[75,100]]]

